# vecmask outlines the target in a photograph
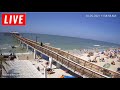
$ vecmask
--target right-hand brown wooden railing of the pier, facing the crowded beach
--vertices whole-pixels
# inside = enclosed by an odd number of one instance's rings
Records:
[[[72,55],[72,54],[70,54],[66,51],[54,48],[52,46],[44,45],[44,47],[48,48],[48,49],[50,49],[54,52],[57,52],[58,54],[66,57],[66,58],[68,58],[68,59],[70,59],[70,60],[72,60],[72,61],[74,61],[74,62],[76,62],[80,65],[88,67],[89,69],[92,69],[96,72],[99,72],[99,73],[104,74],[104,75],[109,76],[109,77],[113,77],[113,78],[118,78],[119,77],[120,78],[120,73],[118,73],[118,72],[114,72],[112,70],[109,70],[109,69],[106,69],[104,67],[98,66],[98,65],[93,64],[89,61],[83,60],[80,57],[74,56],[74,55]]]

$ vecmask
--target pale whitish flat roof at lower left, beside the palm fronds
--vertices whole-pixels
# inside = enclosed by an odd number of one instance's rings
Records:
[[[7,78],[43,78],[43,75],[35,68],[29,60],[7,61],[9,66],[5,66]]]

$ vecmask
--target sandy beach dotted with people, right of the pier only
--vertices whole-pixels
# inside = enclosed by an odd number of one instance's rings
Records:
[[[112,49],[111,49],[112,50]],[[86,61],[90,61],[98,66],[104,67],[106,69],[112,70],[112,71],[117,71],[117,68],[120,68],[120,53],[117,53],[117,56],[114,58],[110,58],[109,56],[105,55],[105,54],[101,54],[101,52],[96,52],[96,51],[92,51],[93,55],[88,57],[88,52],[86,50],[85,51],[81,51],[81,50],[69,50],[69,53],[83,59]],[[104,60],[102,60],[104,58]],[[94,62],[94,60],[96,62]],[[112,62],[114,62],[112,64]],[[115,65],[114,65],[115,64]]]

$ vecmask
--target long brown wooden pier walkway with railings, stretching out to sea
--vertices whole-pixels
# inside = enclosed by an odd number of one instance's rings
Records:
[[[51,56],[61,64],[65,65],[67,68],[72,69],[74,72],[85,75],[90,78],[120,78],[120,73],[108,70],[106,68],[95,65],[91,62],[85,61],[77,56],[74,56],[66,51],[43,45],[40,46],[39,43],[26,39],[17,35],[14,35],[16,38],[22,42],[32,46],[38,51]]]

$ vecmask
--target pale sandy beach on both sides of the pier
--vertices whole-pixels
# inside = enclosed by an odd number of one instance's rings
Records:
[[[88,50],[82,51],[82,50],[75,49],[75,50],[69,50],[68,52],[83,59],[83,60],[89,61],[98,66],[104,67],[106,69],[109,69],[109,70],[112,70],[115,72],[120,67],[120,62],[118,61],[118,59],[119,59],[118,57],[120,57],[120,53],[117,54],[117,57],[109,58],[105,54],[102,54],[101,52],[94,51],[94,50],[90,51],[90,52],[93,52],[93,55],[90,57],[88,57],[88,53],[89,53]],[[36,59],[34,60],[33,56],[34,56],[33,53],[17,55],[18,60],[30,60],[36,68],[39,67],[40,71],[42,73],[44,73],[43,70],[46,65],[46,62],[48,62],[48,61],[42,59],[41,57],[39,57],[37,55],[36,55]],[[103,58],[104,58],[104,60],[102,60]],[[112,64],[112,62],[114,62],[115,65]],[[48,74],[47,75],[48,78],[59,78],[61,75],[68,75],[68,76],[70,75],[70,74],[66,73],[64,70],[56,69],[55,65],[52,65],[52,68],[53,68],[53,72],[55,72],[55,73]]]

